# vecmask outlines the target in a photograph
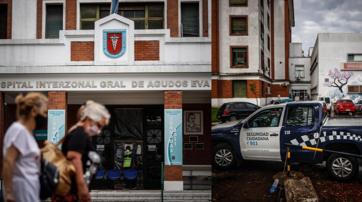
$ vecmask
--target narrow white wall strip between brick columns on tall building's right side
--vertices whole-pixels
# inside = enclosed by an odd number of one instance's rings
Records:
[[[285,79],[284,4],[274,1],[274,79]]]

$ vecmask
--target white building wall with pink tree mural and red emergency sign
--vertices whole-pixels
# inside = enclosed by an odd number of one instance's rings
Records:
[[[347,61],[347,53],[362,53],[362,34],[318,34],[317,42],[313,50],[313,54],[318,53],[318,78],[313,80],[312,85],[317,81],[318,95],[331,96],[334,101],[340,98],[351,98],[354,101],[361,100],[361,95],[358,93],[347,93],[347,85],[362,85],[362,70],[343,70],[341,69],[341,62]],[[312,60],[313,60],[312,54]],[[337,69],[341,74],[346,72],[353,72],[347,85],[342,87],[341,93],[336,87],[324,86],[325,79],[330,82],[333,79],[328,75],[329,71],[334,73]],[[315,79],[315,76],[312,76]],[[344,83],[344,81],[341,81]],[[338,85],[340,85],[338,83]]]

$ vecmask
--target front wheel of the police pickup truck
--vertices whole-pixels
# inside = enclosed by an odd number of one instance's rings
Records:
[[[228,143],[216,145],[211,154],[211,164],[219,170],[226,170],[236,162],[234,149]]]

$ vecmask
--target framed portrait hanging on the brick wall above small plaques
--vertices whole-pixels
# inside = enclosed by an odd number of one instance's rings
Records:
[[[184,134],[203,135],[203,111],[184,111]]]

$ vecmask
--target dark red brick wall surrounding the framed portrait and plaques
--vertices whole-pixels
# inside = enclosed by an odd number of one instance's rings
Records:
[[[211,165],[211,104],[184,104],[182,110],[203,111],[203,135],[183,135],[182,143],[192,143],[192,149],[182,150],[184,165]],[[184,119],[182,119],[184,120]],[[184,123],[186,124],[186,123]],[[185,131],[184,131],[185,132]],[[198,136],[198,142],[189,142],[189,136]],[[195,143],[203,143],[204,149],[195,149]]]

